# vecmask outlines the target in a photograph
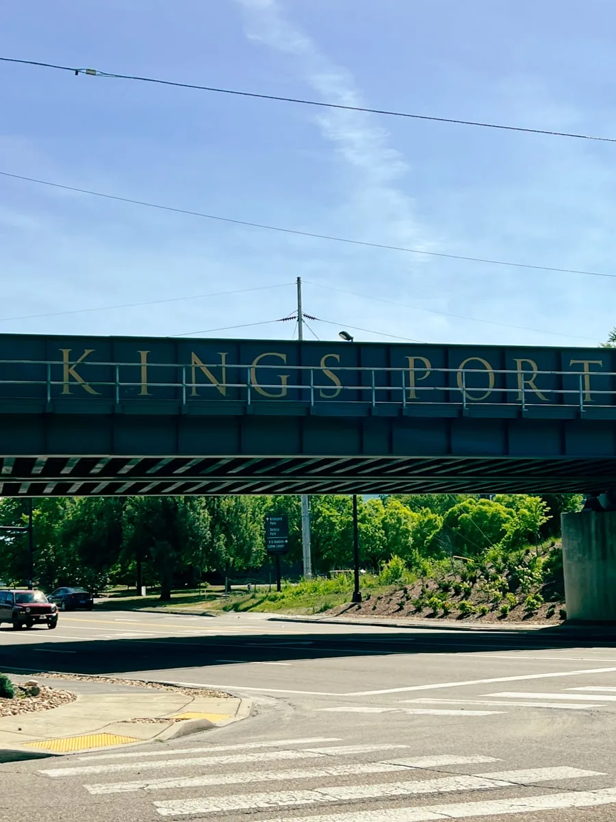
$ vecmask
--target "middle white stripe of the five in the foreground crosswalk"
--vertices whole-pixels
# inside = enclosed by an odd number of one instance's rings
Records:
[[[287,782],[292,779],[317,779],[365,774],[393,774],[411,768],[434,768],[442,765],[477,764],[498,762],[491,756],[433,756],[423,760],[399,762],[369,762],[367,764],[333,765],[331,768],[303,768],[297,770],[244,771],[216,776],[195,776],[182,779],[152,779],[148,782],[112,782],[85,785],[92,794],[128,793],[134,791],[164,791],[169,788],[207,787],[209,785],[236,785],[245,782]]]

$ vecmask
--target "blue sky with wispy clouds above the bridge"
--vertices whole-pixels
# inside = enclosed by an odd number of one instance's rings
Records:
[[[613,0],[54,0],[5,3],[0,54],[616,137],[614,25]],[[233,219],[616,274],[616,144],[5,63],[0,158],[2,171]],[[616,325],[614,279],[345,246],[8,178],[0,266],[5,332],[270,321],[292,312],[297,276],[321,339],[346,327],[366,329],[356,339],[586,345]],[[281,287],[207,296],[269,285]],[[30,316],[56,312],[73,313]]]

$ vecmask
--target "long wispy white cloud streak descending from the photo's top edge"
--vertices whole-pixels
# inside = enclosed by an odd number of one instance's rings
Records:
[[[297,75],[320,99],[329,103],[362,106],[365,101],[346,68],[336,65],[319,46],[284,17],[278,0],[237,0],[246,9],[246,36],[290,55]],[[315,116],[324,138],[335,146],[344,168],[348,191],[345,220],[349,229],[379,242],[429,245],[416,219],[415,204],[400,185],[409,172],[407,161],[389,145],[389,134],[375,115],[342,110],[321,110]]]

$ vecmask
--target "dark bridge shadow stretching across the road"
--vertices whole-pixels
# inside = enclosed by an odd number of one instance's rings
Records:
[[[94,627],[94,626],[93,626]],[[33,636],[36,631],[35,638]],[[136,633],[139,628],[136,627]],[[476,654],[499,651],[613,649],[616,639],[570,636],[559,629],[473,630],[468,633],[412,630],[366,635],[344,632],[247,635],[191,635],[50,641],[47,630],[33,629],[27,641],[13,641],[13,632],[0,629],[0,670],[56,671],[81,674],[166,671],[175,668],[223,666],[229,663],[276,663],[310,659],[389,657],[395,654]],[[24,635],[25,640],[25,635]],[[616,655],[614,657],[616,661]],[[605,662],[603,663],[605,664]]]

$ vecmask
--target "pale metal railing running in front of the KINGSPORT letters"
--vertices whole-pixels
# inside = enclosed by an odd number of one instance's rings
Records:
[[[590,362],[590,361],[589,361]],[[487,364],[487,363],[486,363]],[[616,372],[536,369],[67,363],[0,360],[0,400],[138,399],[246,405],[295,402],[372,407],[447,404],[616,409]]]

